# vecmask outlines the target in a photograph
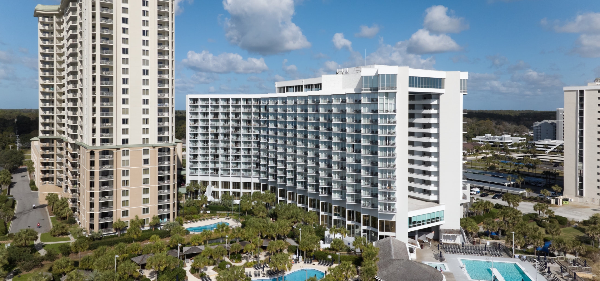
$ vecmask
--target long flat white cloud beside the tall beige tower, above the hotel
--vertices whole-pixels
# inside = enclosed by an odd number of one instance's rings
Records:
[[[187,58],[182,63],[188,68],[199,72],[214,73],[260,73],[268,70],[265,59],[247,58],[234,53],[221,53],[218,56],[208,51],[196,53],[188,51]]]

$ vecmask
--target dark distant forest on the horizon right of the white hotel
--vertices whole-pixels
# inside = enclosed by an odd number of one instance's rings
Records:
[[[556,111],[536,110],[466,110],[464,125],[466,141],[478,135],[524,135],[533,128],[533,122],[556,119]]]

